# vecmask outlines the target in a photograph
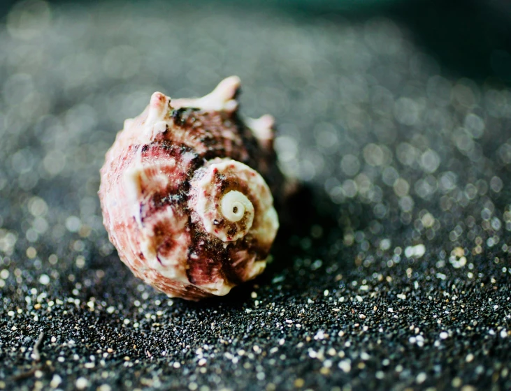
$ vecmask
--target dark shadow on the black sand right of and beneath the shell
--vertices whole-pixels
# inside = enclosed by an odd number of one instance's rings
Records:
[[[340,212],[345,206],[333,203],[326,193],[318,189],[301,186],[280,207],[280,229],[271,251],[272,260],[265,272],[257,279],[233,288],[224,297],[208,298],[192,303],[190,307],[243,307],[253,300],[251,294],[259,287],[265,288],[266,293],[271,295],[275,293],[274,286],[283,285],[285,295],[303,295],[305,286],[322,286],[333,281],[337,272],[350,272],[355,265],[349,253],[329,255],[332,244],[342,241],[347,228],[346,217],[354,219],[355,216],[364,215],[364,211],[357,210],[356,213],[347,212],[346,216]],[[364,226],[365,222],[360,221],[358,224]],[[324,267],[314,270],[312,263],[317,263],[318,259],[324,260]],[[303,262],[308,264],[303,265]],[[336,273],[326,272],[329,265],[333,264]],[[281,283],[283,279],[285,282]]]

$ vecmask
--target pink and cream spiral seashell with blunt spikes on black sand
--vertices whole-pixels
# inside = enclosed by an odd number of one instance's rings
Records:
[[[101,168],[103,224],[121,260],[171,297],[226,295],[266,267],[278,230],[273,117],[243,121],[240,80],[202,98],[155,92]]]

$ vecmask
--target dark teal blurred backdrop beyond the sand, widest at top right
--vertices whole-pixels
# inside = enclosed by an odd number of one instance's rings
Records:
[[[108,1],[108,0],[100,0]],[[80,3],[50,0],[50,3]],[[127,1],[118,1],[127,3]],[[131,2],[145,3],[144,0]],[[173,3],[177,0],[162,1]],[[487,82],[511,82],[510,0],[223,0],[226,6],[246,12],[278,8],[288,13],[329,15],[333,21],[365,20],[382,15],[407,27],[417,45],[453,76]],[[15,0],[0,1],[0,15]],[[81,1],[87,4],[88,1]],[[189,0],[192,6],[210,4]]]

